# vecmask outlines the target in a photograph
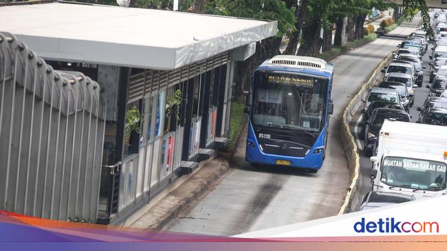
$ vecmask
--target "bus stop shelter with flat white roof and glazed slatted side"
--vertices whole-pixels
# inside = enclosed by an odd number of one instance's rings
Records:
[[[277,30],[276,21],[57,1],[1,6],[0,23],[54,69],[102,90],[99,223],[123,221],[215,156],[228,141],[237,61]]]

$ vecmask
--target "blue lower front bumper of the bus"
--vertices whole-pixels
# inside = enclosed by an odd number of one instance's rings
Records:
[[[325,151],[323,149],[323,151]],[[284,156],[284,155],[274,155],[263,153],[256,146],[249,146],[247,144],[246,148],[246,161],[251,163],[258,164],[269,164],[276,165],[276,160],[285,160],[286,162],[290,162],[290,165],[281,165],[281,166],[292,166],[295,168],[308,168],[308,169],[320,169],[323,165],[323,151],[320,153],[313,153],[314,149],[311,149],[307,155],[304,157],[292,157],[292,156]]]

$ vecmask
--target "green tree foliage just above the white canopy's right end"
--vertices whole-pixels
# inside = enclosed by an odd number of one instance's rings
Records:
[[[295,8],[287,8],[279,0],[211,0],[205,5],[206,14],[245,17],[250,19],[277,20],[278,34],[290,34],[295,30]]]

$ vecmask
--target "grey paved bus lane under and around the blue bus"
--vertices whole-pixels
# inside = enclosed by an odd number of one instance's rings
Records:
[[[417,17],[413,23],[419,20]],[[393,33],[409,34],[414,28],[402,25]],[[245,162],[243,135],[230,171],[165,230],[232,235],[336,215],[349,186],[336,120],[396,44],[395,39],[377,39],[331,62],[335,65],[335,107],[329,123],[326,160],[318,173],[277,166],[253,168]]]

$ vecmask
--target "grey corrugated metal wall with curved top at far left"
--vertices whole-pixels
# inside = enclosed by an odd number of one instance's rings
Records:
[[[0,32],[0,210],[95,222],[104,118],[98,83]]]

